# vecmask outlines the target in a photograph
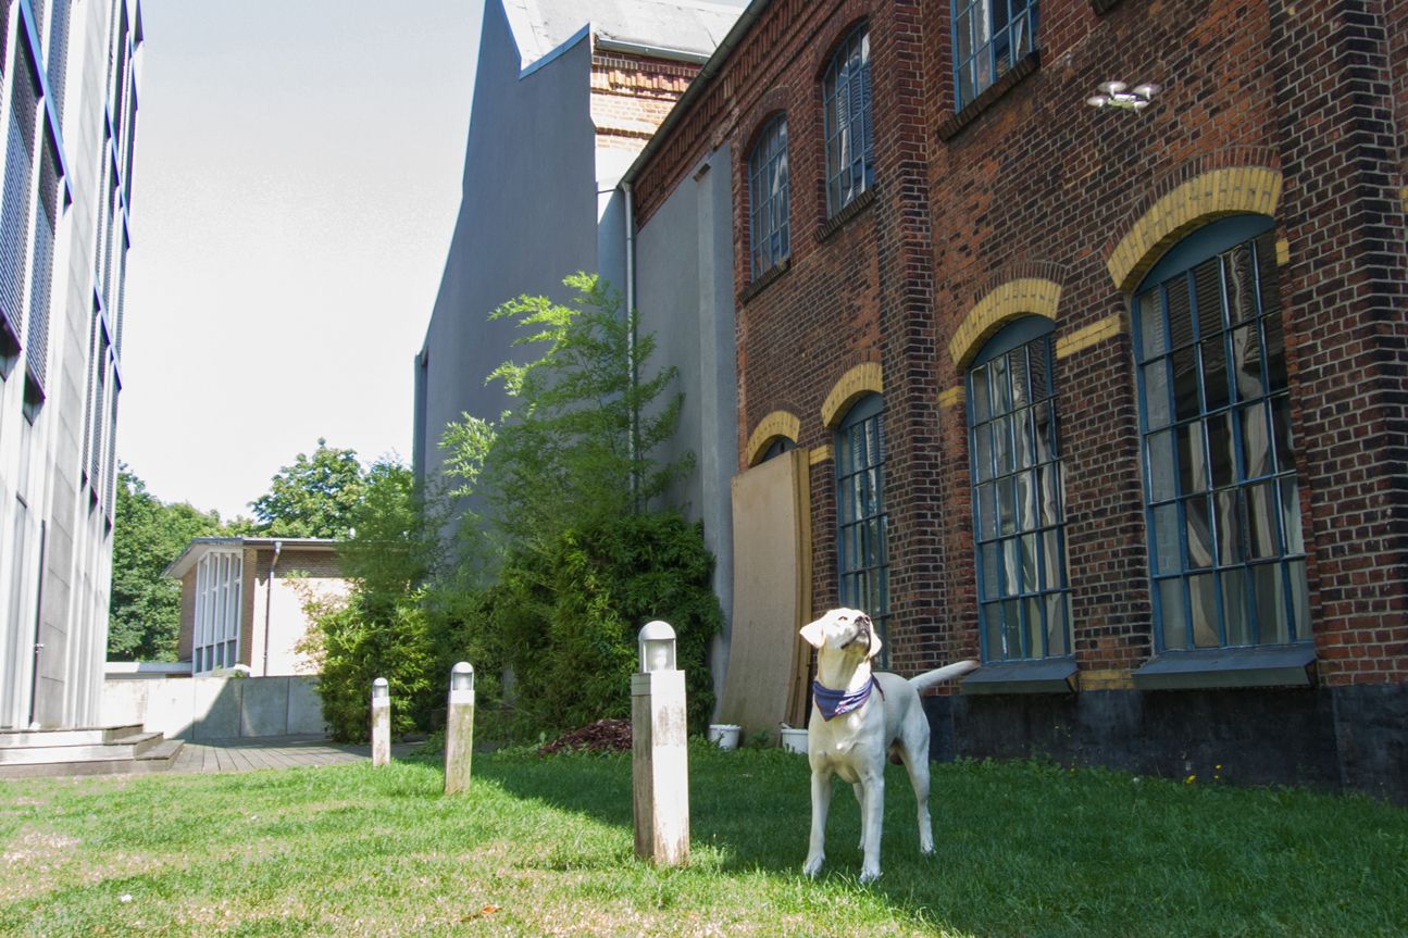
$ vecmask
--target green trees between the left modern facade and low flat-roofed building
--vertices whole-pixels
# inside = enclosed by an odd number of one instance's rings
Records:
[[[125,465],[121,466],[113,518],[108,658],[176,661],[180,583],[163,570],[191,538],[222,534],[225,530],[217,513],[166,504]]]

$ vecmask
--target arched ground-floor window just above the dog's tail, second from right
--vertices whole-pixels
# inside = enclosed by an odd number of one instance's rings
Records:
[[[967,373],[986,661],[1071,651],[1052,361],[1052,321],[1032,315],[988,339]]]

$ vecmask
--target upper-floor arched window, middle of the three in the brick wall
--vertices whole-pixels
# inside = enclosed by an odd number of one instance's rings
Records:
[[[870,115],[870,28],[856,27],[831,56],[821,83],[825,107],[826,214],[834,215],[876,182]]]

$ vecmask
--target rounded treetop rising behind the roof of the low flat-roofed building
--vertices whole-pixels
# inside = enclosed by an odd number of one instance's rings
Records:
[[[291,466],[275,473],[269,492],[251,503],[258,520],[252,534],[342,539],[365,486],[356,452],[328,446],[320,437],[311,456],[300,452]]]

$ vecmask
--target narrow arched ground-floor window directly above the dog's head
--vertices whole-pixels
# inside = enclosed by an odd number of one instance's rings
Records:
[[[869,614],[887,638],[883,411],[883,399],[867,394],[852,404],[836,430],[836,558],[841,604]]]

